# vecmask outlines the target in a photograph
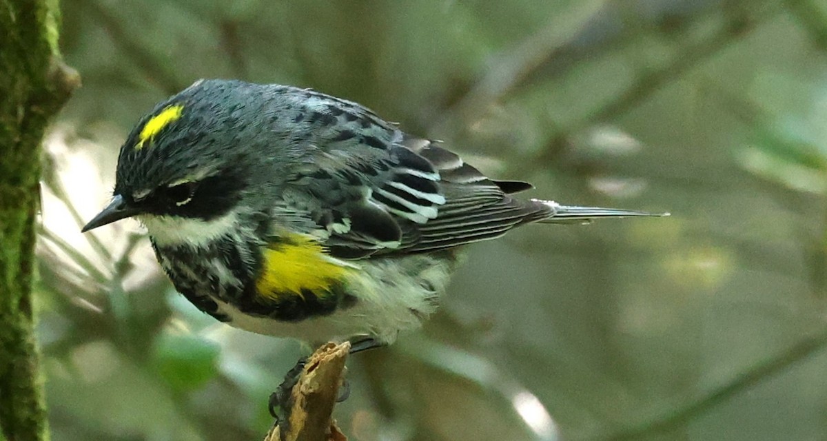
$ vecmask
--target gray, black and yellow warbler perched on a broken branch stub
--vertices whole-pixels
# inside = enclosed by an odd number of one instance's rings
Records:
[[[357,103],[201,80],[132,130],[112,203],[83,231],[136,217],[203,312],[360,349],[433,312],[458,246],[525,223],[652,215],[512,196],[530,187],[490,180]]]

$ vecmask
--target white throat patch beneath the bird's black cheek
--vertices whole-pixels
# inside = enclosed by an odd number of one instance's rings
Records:
[[[233,232],[237,228],[238,214],[231,211],[209,221],[152,214],[143,214],[137,218],[146,226],[146,231],[160,247],[204,247]]]

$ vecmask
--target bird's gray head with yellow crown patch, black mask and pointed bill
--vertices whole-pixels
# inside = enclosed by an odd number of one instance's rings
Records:
[[[253,159],[238,88],[200,81],[143,117],[121,147],[112,202],[83,231],[136,217],[154,238],[192,242],[229,228]]]

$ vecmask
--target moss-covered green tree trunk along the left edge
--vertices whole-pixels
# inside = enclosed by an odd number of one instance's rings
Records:
[[[47,439],[31,280],[46,125],[78,83],[57,53],[57,0],[0,0],[0,426]]]

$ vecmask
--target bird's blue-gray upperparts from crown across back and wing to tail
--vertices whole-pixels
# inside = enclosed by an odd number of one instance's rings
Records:
[[[138,166],[118,169],[119,186],[160,186],[189,170],[230,175],[243,184],[241,197],[279,205],[256,209],[275,208],[290,213],[290,227],[326,232],[335,256],[439,250],[538,221],[649,215],[515,199],[510,194],[531,186],[490,180],[437,142],[308,89],[203,80],[150,115],[171,103],[186,111],[152,140],[163,148],[124,149],[133,157],[121,161]]]

